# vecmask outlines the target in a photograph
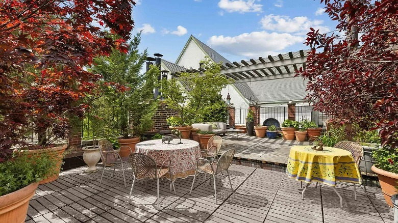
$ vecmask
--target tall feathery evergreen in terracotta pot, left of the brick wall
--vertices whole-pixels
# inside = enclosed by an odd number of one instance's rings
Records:
[[[151,66],[145,74],[139,73],[147,57],[146,51],[138,52],[140,42],[141,33],[138,33],[128,43],[127,52],[114,49],[107,57],[94,58],[90,68],[104,77],[99,85],[102,86],[102,106],[109,110],[109,114],[102,118],[110,136],[120,136],[121,157],[129,156],[140,136],[152,128],[152,117],[157,108],[153,89],[160,71]]]

